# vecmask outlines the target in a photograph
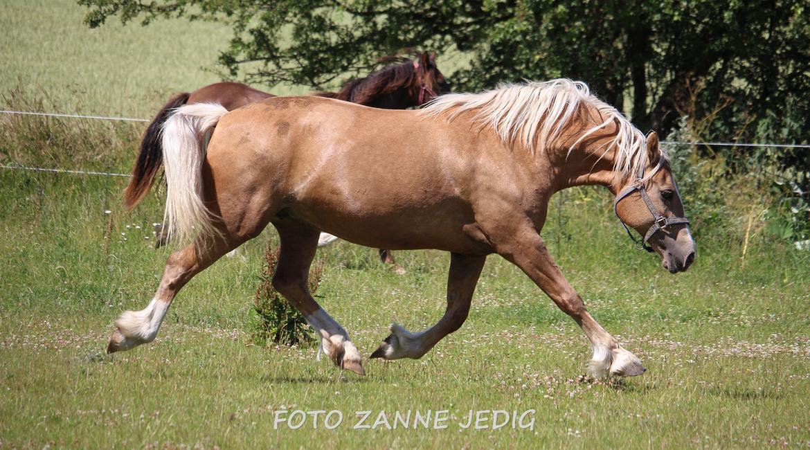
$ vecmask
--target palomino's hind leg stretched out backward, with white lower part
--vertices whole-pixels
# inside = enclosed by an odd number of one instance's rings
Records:
[[[172,299],[195,274],[211,265],[232,248],[237,248],[246,238],[217,237],[204,244],[189,245],[173,253],[166,261],[163,279],[155,296],[140,311],[125,311],[115,322],[115,331],[109,339],[107,353],[130,350],[135,346],[152,342],[168,311]]]

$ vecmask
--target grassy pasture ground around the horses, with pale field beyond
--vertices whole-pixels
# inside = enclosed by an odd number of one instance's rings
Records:
[[[69,1],[2,8],[0,33],[19,43],[0,50],[4,108],[148,117],[170,92],[215,81],[202,68],[228,37],[216,24],[181,20],[89,31]],[[132,42],[142,54],[122,47]],[[160,66],[138,71],[152,61]],[[4,165],[111,172],[129,172],[145,127],[6,116],[0,124]],[[467,323],[423,359],[364,361],[360,377],[316,362],[314,346],[256,346],[251,306],[262,254],[277,242],[271,227],[195,277],[156,342],[106,355],[113,321],[147,304],[171,251],[155,250],[151,233],[164,192],[127,213],[125,185],[124,177],[0,170],[0,447],[810,446],[810,256],[751,225],[746,212],[759,200],[745,180],[684,186],[733,186],[735,195],[727,220],[693,217],[697,260],[678,275],[633,249],[604,189],[553,199],[542,233],[552,255],[648,369],[607,381],[584,376],[590,346],[581,330],[497,256]],[[688,194],[684,202],[689,213]],[[395,255],[407,274],[346,242],[318,252],[318,301],[366,358],[391,321],[423,329],[444,312],[449,256]],[[339,410],[343,421],[313,429],[310,416],[292,429],[277,423],[279,410]],[[408,410],[446,410],[446,428],[411,420],[407,429],[355,429],[358,411],[372,411],[368,425],[385,411],[393,426],[394,413]],[[465,429],[470,410],[534,410],[526,416],[534,422]]]

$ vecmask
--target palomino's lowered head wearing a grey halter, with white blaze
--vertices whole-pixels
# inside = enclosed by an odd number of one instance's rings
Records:
[[[613,206],[625,228],[632,227],[644,236],[637,242],[661,255],[664,269],[672,274],[683,272],[695,260],[695,241],[669,162],[654,132],[646,139],[646,158],[646,168],[629,177]]]

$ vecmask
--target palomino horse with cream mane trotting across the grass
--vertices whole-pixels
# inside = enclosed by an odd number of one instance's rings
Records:
[[[214,125],[206,152],[201,138]],[[307,290],[320,230],[369,247],[450,252],[445,315],[420,333],[392,325],[372,357],[418,359],[458,329],[487,255],[497,253],[582,327],[593,375],[635,376],[642,363],[590,316],[539,236],[549,197],[603,185],[616,195],[620,220],[645,236],[664,268],[687,270],[695,256],[656,135],[645,137],[567,79],[450,94],[419,111],[317,97],[276,97],[232,113],[188,105],[166,122],[164,151],[166,222],[194,243],[168,258],[147,308],[116,321],[109,352],[155,339],[194,274],[273,223],[281,239],[273,286],[339,367],[364,373],[346,330]]]

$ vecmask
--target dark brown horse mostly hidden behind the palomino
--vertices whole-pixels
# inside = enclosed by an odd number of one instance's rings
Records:
[[[414,59],[407,57],[383,57],[381,62],[393,62],[369,76],[353,79],[337,92],[315,92],[313,96],[344,100],[363,104],[372,108],[407,109],[421,106],[441,94],[450,92],[450,83],[436,66],[436,53],[416,53]],[[223,82],[201,87],[194,92],[176,94],[160,108],[155,120],[149,124],[141,142],[140,154],[124,190],[124,203],[127,208],[137,206],[149,193],[155,182],[158,168],[163,160],[163,146],[160,130],[174,109],[185,104],[217,103],[228,111],[265,100],[275,95],[259,91],[242,83]],[[162,229],[158,230],[156,247],[167,242]],[[321,242],[328,244],[335,236],[323,233]],[[394,266],[398,274],[404,270],[394,261],[390,250],[380,249],[380,259]]]

